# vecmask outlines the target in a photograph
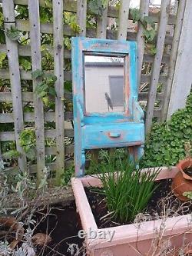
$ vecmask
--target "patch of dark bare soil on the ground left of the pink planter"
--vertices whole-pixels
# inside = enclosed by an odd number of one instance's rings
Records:
[[[42,221],[44,214],[47,217]],[[65,207],[60,204],[51,205],[49,209],[38,213],[36,219],[39,224],[35,233],[44,233],[51,236],[49,244],[43,249],[38,248],[38,255],[71,256],[71,252],[68,251],[70,244],[74,244],[75,252],[77,246],[82,248],[83,240],[78,238],[78,231],[81,229],[81,225],[74,202]]]

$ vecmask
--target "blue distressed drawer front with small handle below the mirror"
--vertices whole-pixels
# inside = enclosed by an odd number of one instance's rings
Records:
[[[84,126],[84,147],[110,148],[141,145],[144,143],[143,123],[124,123],[120,125]]]

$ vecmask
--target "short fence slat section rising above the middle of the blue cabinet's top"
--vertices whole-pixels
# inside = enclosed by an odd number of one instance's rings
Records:
[[[107,25],[108,25],[108,2],[105,1],[104,12],[101,16],[97,17],[97,38],[106,38]]]

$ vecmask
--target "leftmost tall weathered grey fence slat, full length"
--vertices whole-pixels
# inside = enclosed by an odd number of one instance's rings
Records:
[[[3,15],[5,21],[5,31],[15,27],[15,10],[13,0],[2,1]],[[22,110],[22,90],[21,79],[18,65],[18,42],[12,41],[6,35],[6,45],[8,52],[8,67],[12,85],[12,106],[14,113],[14,130],[17,151],[21,154],[18,158],[18,167],[21,171],[26,171],[27,161],[25,152],[19,144],[19,135],[24,129],[23,110]]]

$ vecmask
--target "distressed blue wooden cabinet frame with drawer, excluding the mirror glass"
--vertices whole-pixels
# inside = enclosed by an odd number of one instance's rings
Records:
[[[75,175],[84,175],[85,149],[130,147],[131,158],[141,158],[144,145],[144,113],[137,102],[136,42],[83,37],[72,38],[71,42]],[[128,55],[129,62],[125,65],[127,72],[124,74],[127,81],[124,112],[85,113],[84,53]]]

